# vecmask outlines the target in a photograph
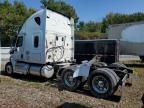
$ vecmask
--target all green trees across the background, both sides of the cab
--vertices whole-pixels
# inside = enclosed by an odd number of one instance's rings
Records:
[[[109,13],[102,22],[83,22],[79,20],[74,7],[62,0],[41,0],[40,2],[42,8],[52,9],[74,18],[76,39],[106,38],[105,32],[109,25],[144,20],[144,13],[137,12],[134,14]],[[0,0],[0,40],[2,46],[10,46],[14,42],[19,28],[36,11],[26,7],[23,2],[14,1],[11,4],[9,0]]]

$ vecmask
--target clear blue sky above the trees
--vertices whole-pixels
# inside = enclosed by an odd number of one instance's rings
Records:
[[[10,0],[13,2],[14,0]],[[18,0],[28,7],[41,9],[40,0]],[[100,22],[110,12],[132,14],[144,13],[144,0],[62,0],[72,5],[80,21]]]

